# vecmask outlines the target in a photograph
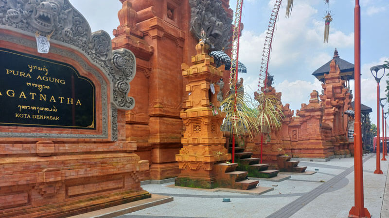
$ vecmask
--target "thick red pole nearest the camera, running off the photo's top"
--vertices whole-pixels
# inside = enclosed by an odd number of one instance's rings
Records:
[[[355,0],[354,8],[354,206],[349,212],[352,218],[371,218],[363,197],[363,163],[361,131],[361,7]]]

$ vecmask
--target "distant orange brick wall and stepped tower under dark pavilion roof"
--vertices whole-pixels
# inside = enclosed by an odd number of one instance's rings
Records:
[[[313,75],[322,82],[322,93],[314,90],[310,94],[309,104],[301,104],[301,109],[283,107],[284,119],[280,130],[265,133],[269,139],[264,144],[263,161],[273,163],[275,168],[280,156],[285,154],[294,158],[328,159],[354,155],[354,139],[349,138],[350,118],[345,111],[353,109],[353,96],[349,80],[354,78],[354,65],[339,58],[335,49],[334,58],[316,70]],[[267,93],[281,99],[282,93],[276,93],[268,87]],[[281,101],[280,101],[281,102]],[[364,108],[365,122],[369,122],[369,107]],[[247,139],[245,151],[253,152],[259,157],[260,137]]]

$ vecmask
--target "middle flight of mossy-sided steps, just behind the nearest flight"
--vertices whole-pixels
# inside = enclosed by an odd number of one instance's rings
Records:
[[[235,151],[243,150],[240,150],[240,148],[235,149]],[[260,164],[261,158],[252,158],[251,156],[251,152],[236,152],[235,163],[238,163],[236,169],[239,171],[247,171],[249,177],[272,178],[277,176],[278,170],[268,170],[269,164]]]

